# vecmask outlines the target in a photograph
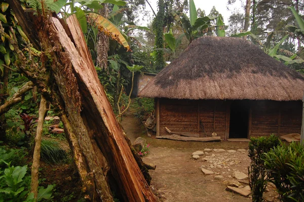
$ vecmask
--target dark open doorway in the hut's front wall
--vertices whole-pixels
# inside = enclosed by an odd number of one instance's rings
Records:
[[[234,100],[230,107],[229,138],[247,138],[249,100]]]

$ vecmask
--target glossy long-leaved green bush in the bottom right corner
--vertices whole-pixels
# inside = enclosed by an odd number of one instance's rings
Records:
[[[269,181],[282,201],[304,201],[304,145],[277,146],[263,157]]]

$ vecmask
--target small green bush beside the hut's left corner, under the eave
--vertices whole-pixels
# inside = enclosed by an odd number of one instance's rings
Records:
[[[151,112],[154,111],[154,99],[153,98],[135,98],[133,104],[135,109],[134,115],[140,120],[143,121],[148,118]]]

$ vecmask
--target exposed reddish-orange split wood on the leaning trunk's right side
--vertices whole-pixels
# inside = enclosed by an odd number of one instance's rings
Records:
[[[117,122],[99,82],[77,18],[72,15],[67,19],[76,46],[68,38],[58,20],[55,18],[52,20],[80,86],[84,102],[82,116],[91,121],[87,124],[100,128],[99,131],[96,128],[93,130],[93,138],[108,161],[111,173],[118,182],[125,200],[155,201],[155,196],[139,170],[125,139],[125,133]]]

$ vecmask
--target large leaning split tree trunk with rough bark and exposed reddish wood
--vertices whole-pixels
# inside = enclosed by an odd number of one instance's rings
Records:
[[[54,78],[51,84],[48,80],[31,77],[35,74],[26,75],[53,106],[62,111],[61,119],[86,198],[113,201],[109,184],[115,181],[117,194],[125,201],[156,201],[145,180],[150,180],[147,169],[130,149],[130,141],[117,122],[98,80],[77,18],[70,16],[68,26],[62,26],[64,21],[57,18],[22,17],[29,14],[24,13],[19,1],[9,3],[14,13],[21,16],[18,18],[20,25],[34,28],[31,36],[38,38],[28,36],[30,41],[40,42],[42,51],[51,58],[45,61],[50,68],[47,73]],[[109,169],[113,178],[107,178]]]

